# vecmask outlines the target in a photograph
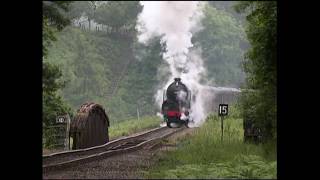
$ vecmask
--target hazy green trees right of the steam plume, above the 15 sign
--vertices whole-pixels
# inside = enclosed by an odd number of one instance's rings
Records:
[[[231,13],[205,6],[203,29],[193,41],[200,45],[210,85],[239,87],[245,74],[241,61],[248,42],[244,29]]]

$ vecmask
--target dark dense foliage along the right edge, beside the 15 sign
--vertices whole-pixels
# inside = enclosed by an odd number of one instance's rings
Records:
[[[246,53],[246,88],[242,94],[245,119],[262,127],[266,140],[277,131],[277,2],[240,2],[235,6],[246,14],[246,33],[251,48]]]

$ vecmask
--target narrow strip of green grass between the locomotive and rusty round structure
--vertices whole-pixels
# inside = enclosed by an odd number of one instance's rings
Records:
[[[146,129],[159,127],[162,120],[157,116],[145,116],[138,119],[129,119],[117,124],[111,124],[109,137],[114,139],[121,136],[128,136]]]

